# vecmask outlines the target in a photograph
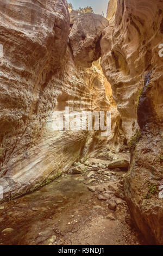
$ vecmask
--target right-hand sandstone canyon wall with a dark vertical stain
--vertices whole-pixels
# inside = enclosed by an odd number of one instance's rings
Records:
[[[101,40],[102,68],[128,141],[141,129],[124,178],[126,199],[137,227],[149,243],[158,244],[163,243],[163,204],[157,192],[163,181],[163,58],[158,54],[162,9],[159,0],[118,1],[115,20],[104,29]],[[153,192],[150,184],[155,186]]]

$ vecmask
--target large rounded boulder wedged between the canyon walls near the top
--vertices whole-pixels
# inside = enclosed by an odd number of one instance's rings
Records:
[[[86,13],[79,15],[70,32],[70,46],[78,65],[90,68],[92,62],[101,57],[99,40],[102,31],[109,25],[103,16]]]

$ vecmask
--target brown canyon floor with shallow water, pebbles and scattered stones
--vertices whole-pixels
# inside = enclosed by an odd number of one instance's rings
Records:
[[[146,244],[123,200],[125,173],[108,169],[108,161],[89,159],[40,190],[1,204],[0,244]]]

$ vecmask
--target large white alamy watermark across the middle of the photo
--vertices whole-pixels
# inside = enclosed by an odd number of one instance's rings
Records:
[[[54,131],[99,131],[101,136],[109,136],[111,133],[110,111],[73,111],[65,107],[64,111],[53,112]]]

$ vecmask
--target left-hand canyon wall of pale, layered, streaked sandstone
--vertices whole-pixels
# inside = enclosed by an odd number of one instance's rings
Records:
[[[47,184],[66,172],[73,162],[108,142],[112,148],[121,148],[118,141],[121,118],[97,60],[101,56],[99,39],[109,25],[104,17],[91,14],[92,41],[87,34],[78,38],[80,45],[83,44],[79,64],[74,62],[76,46],[72,36],[69,40],[70,15],[65,0],[1,0],[0,5],[3,201]],[[78,36],[78,33],[77,26],[72,28],[71,34]],[[90,53],[82,58],[88,44],[92,44]],[[89,68],[85,67],[84,57],[89,58]],[[91,66],[93,61],[96,62]],[[53,113],[64,111],[66,106],[70,111],[111,109],[110,137],[101,137],[99,131],[54,131]],[[124,136],[122,142],[123,139]]]

